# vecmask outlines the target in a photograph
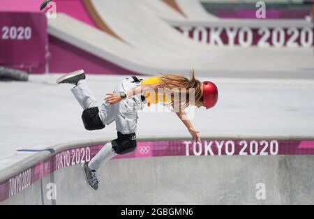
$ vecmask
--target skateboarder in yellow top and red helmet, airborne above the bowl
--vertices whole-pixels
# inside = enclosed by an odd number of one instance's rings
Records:
[[[98,106],[85,77],[84,70],[77,70],[60,77],[57,84],[75,85],[72,92],[84,110],[82,120],[87,130],[105,128],[112,121],[116,123],[117,139],[107,142],[90,162],[82,165],[87,182],[94,190],[98,189],[97,170],[101,163],[117,154],[135,150],[137,111],[142,110],[144,104],[151,106],[161,102],[171,105],[193,139],[200,142],[199,132],[193,128],[184,108],[195,105],[209,109],[218,100],[216,85],[208,81],[200,82],[192,72],[190,79],[180,75],[160,75],[138,80],[132,76],[132,79],[117,84],[113,93],[107,93],[105,103]]]

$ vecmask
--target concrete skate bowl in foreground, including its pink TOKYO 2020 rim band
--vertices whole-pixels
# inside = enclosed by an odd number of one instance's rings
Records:
[[[59,144],[0,172],[1,204],[314,204],[314,137],[139,138],[99,171],[107,139]]]

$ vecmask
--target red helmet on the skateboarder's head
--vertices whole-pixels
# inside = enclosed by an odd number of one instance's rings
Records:
[[[209,109],[216,105],[218,100],[218,89],[217,86],[212,82],[203,82],[203,93],[202,93],[204,107]]]

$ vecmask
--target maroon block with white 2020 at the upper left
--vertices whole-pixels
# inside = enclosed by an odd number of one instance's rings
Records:
[[[43,13],[0,11],[0,29],[1,66],[34,73],[45,71],[48,36]]]

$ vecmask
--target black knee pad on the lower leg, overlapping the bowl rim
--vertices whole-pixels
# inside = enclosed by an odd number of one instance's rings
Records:
[[[118,138],[112,142],[112,148],[118,154],[124,154],[132,152],[136,149],[136,134],[122,134],[118,132]]]

